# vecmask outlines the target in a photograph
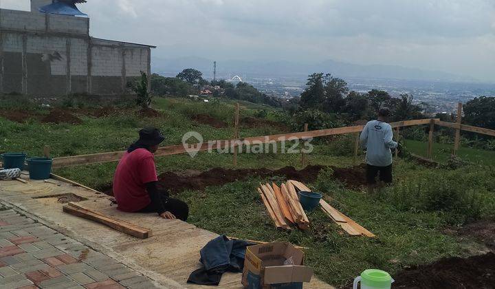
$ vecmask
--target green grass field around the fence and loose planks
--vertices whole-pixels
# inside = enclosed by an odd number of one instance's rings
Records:
[[[30,156],[40,156],[43,145],[50,145],[53,156],[124,150],[135,140],[137,131],[146,125],[162,130],[166,135],[165,145],[181,143],[181,136],[186,131],[199,131],[206,140],[232,138],[234,134],[232,103],[206,104],[181,98],[157,98],[153,107],[162,116],[146,118],[136,114],[136,109],[124,109],[102,118],[78,115],[83,120],[80,125],[43,124],[34,119],[17,123],[0,117],[0,151],[26,151]],[[257,110],[267,109],[245,103],[241,107],[241,116],[254,116]],[[41,113],[47,114],[47,111]],[[192,121],[191,116],[196,114],[223,120],[228,127],[214,128]],[[278,128],[270,126],[242,127],[241,137],[279,132]],[[309,164],[350,167],[355,163],[351,156],[352,138],[315,142],[315,145],[314,152],[308,156]],[[419,154],[426,150],[426,144],[421,142],[408,141],[407,147]],[[445,161],[450,147],[435,144],[434,149],[435,158]],[[456,170],[428,169],[399,159],[395,162],[394,185],[375,195],[347,189],[333,179],[330,171],[320,173],[316,182],[308,184],[331,197],[328,200],[333,206],[375,233],[377,239],[342,234],[320,211],[309,213],[309,231],[277,231],[256,193],[256,186],[262,181],[259,178],[208,187],[205,191],[185,191],[178,197],[190,205],[188,222],[201,228],[235,237],[285,240],[309,247],[307,264],[315,268],[316,275],[335,286],[343,286],[366,268],[380,268],[393,274],[413,264],[425,264],[447,256],[475,255],[485,249],[474,239],[444,233],[446,228],[458,228],[465,222],[494,217],[495,171],[489,164],[495,154],[468,148],[462,148],[459,154],[478,164]],[[99,189],[111,184],[115,166],[115,162],[91,164],[57,169],[55,173]],[[238,168],[279,169],[285,166],[300,168],[300,154],[239,156]],[[157,158],[159,173],[203,171],[213,167],[232,168],[232,156],[199,153],[196,158],[188,155]],[[270,180],[282,181],[281,178]]]

